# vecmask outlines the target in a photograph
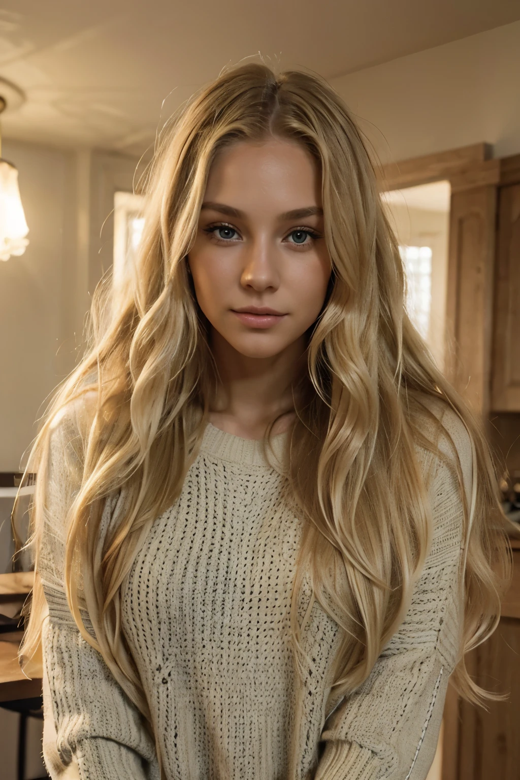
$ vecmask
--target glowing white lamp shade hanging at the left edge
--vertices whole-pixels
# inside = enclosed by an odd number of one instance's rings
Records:
[[[0,159],[0,260],[23,254],[29,243],[29,228],[19,197],[18,171]]]

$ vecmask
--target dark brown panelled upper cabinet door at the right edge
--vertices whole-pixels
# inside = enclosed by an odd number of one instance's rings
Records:
[[[520,412],[520,184],[499,190],[491,409]]]

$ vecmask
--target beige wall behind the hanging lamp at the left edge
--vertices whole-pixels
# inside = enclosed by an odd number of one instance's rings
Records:
[[[71,152],[14,141],[2,151],[19,169],[30,226],[25,254],[0,263],[0,471],[16,471],[41,403],[65,368],[75,183]]]

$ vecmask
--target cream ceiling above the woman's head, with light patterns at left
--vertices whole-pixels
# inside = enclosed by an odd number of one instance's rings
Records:
[[[520,19],[518,0],[3,0],[5,137],[140,154],[243,58],[331,80]]]

